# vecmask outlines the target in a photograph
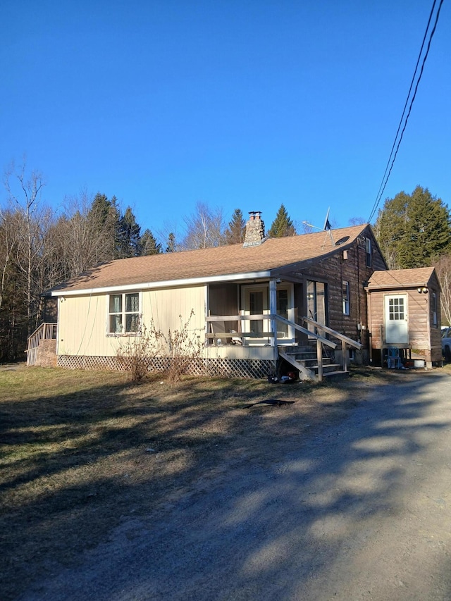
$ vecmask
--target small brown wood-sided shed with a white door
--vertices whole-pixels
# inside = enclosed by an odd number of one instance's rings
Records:
[[[419,366],[441,363],[440,283],[433,267],[375,271],[365,290],[371,360],[383,361],[395,347]]]

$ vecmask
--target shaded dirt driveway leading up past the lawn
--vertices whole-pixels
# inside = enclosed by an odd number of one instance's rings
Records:
[[[276,446],[225,444],[23,600],[451,600],[450,383],[400,373]]]

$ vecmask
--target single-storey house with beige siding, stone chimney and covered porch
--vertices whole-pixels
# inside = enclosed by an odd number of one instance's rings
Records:
[[[262,378],[283,359],[321,379],[346,371],[349,357],[369,361],[365,287],[387,268],[371,226],[267,239],[259,211],[249,215],[244,244],[118,259],[50,290],[58,320],[47,357],[53,345],[58,366],[117,368],[129,337],[152,323],[177,330],[192,314],[202,348],[192,373]]]

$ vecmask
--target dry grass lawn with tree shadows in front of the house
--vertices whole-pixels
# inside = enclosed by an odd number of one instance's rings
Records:
[[[77,562],[130,515],[180,498],[192,483],[240,461],[283,451],[341,419],[387,371],[359,369],[339,383],[161,376],[134,385],[123,373],[0,371],[0,597]],[[268,399],[295,401],[267,405]]]

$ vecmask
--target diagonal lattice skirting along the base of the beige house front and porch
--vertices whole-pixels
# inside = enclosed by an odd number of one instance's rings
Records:
[[[151,373],[168,371],[168,357],[149,359],[147,368]],[[126,371],[125,362],[117,357],[75,357],[58,355],[58,367],[66,369],[107,369]],[[192,359],[186,373],[190,376],[226,376],[228,378],[267,378],[275,372],[275,362],[264,359]]]

